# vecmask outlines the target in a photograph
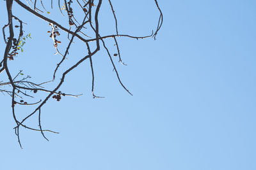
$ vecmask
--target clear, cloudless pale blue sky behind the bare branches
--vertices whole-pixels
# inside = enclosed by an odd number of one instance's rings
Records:
[[[145,35],[156,28],[153,0],[113,5],[120,33]],[[42,126],[60,134],[46,133],[48,142],[39,132],[22,129],[21,150],[12,129],[10,97],[1,95],[0,169],[256,169],[256,1],[159,0],[159,6],[164,24],[156,41],[118,39],[128,66],[115,62],[134,96],[120,87],[102,49],[93,59],[95,94],[106,98],[92,99],[86,61],[61,88],[83,96],[51,100],[42,109]],[[46,7],[48,17],[59,13]],[[111,34],[114,22],[106,1],[102,8],[100,30]],[[17,5],[13,11],[28,23],[24,28],[32,39],[9,62],[12,74],[22,69],[34,81],[51,80],[61,57],[53,55],[48,23]],[[0,15],[3,26],[5,1],[0,2]],[[58,19],[65,20],[59,14]],[[61,50],[66,40],[63,33]],[[113,41],[106,42],[115,52]],[[86,55],[83,48],[76,39],[63,69]],[[0,51],[4,53],[3,36]],[[17,115],[31,110],[20,108]],[[36,117],[28,124],[36,127]]]

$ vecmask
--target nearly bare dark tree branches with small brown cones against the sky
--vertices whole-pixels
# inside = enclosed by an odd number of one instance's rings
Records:
[[[58,55],[61,55],[61,60],[58,62],[57,66],[54,69],[54,72],[52,73],[52,80],[43,82],[43,83],[35,83],[32,81],[29,81],[29,76],[22,77],[20,78],[20,74],[22,74],[22,71],[18,71],[17,74],[12,75],[10,73],[10,68],[9,64],[12,64],[12,60],[19,55],[19,51],[22,50],[23,46],[23,41],[22,39],[26,39],[30,37],[30,34],[24,36],[24,31],[22,25],[24,22],[20,20],[19,16],[14,16],[13,15],[13,1],[24,10],[29,11],[31,15],[36,15],[37,17],[41,18],[45,22],[48,22],[49,25],[51,26],[51,31],[49,32],[49,36],[53,41],[54,48],[56,49],[56,53]],[[74,2],[73,2],[74,1]],[[163,23],[163,14],[159,8],[159,5],[157,3],[157,0],[152,0],[156,3],[156,9],[159,10],[160,16],[159,20],[157,23],[157,27],[155,31],[152,31],[152,34],[149,34],[148,36],[131,36],[129,34],[119,34],[118,32],[118,24],[117,24],[117,19],[115,15],[115,10],[113,7],[113,4],[111,0],[108,0],[109,3],[109,10],[113,13],[113,19],[115,20],[115,34],[110,34],[110,35],[102,35],[100,34],[99,31],[99,11],[101,10],[102,6],[102,0],[58,0],[58,8],[63,15],[63,17],[67,16],[68,17],[68,25],[69,28],[64,27],[63,25],[59,24],[56,20],[51,20],[50,18],[45,17],[44,11],[44,2],[42,0],[26,0],[24,3],[22,3],[21,0],[6,0],[6,9],[7,9],[7,15],[8,15],[8,23],[4,25],[3,27],[3,38],[4,42],[6,43],[6,48],[4,51],[3,59],[0,62],[0,74],[5,73],[6,76],[8,77],[8,80],[6,81],[0,81],[0,92],[3,94],[8,94],[10,97],[12,97],[12,114],[13,114],[13,119],[15,120],[15,123],[17,124],[14,129],[15,129],[15,134],[17,135],[19,145],[22,147],[20,143],[20,133],[19,129],[20,127],[24,127],[26,129],[29,129],[31,131],[38,131],[42,133],[42,136],[44,136],[45,139],[45,132],[53,132],[57,133],[54,131],[50,130],[45,130],[42,129],[41,125],[41,108],[44,106],[44,104],[49,100],[50,97],[56,99],[57,101],[61,100],[61,97],[63,96],[72,96],[72,97],[77,97],[79,95],[72,95],[72,94],[66,94],[64,92],[61,92],[59,89],[61,85],[63,84],[65,80],[65,76],[70,73],[73,69],[75,69],[79,64],[84,62],[85,60],[89,60],[90,62],[90,67],[92,71],[92,96],[93,98],[97,97],[95,96],[93,92],[93,87],[94,87],[94,73],[93,73],[93,55],[95,53],[99,52],[100,48],[103,48],[106,50],[106,53],[109,57],[109,60],[111,61],[111,64],[113,66],[113,71],[116,73],[116,77],[118,78],[118,81],[120,85],[129,93],[129,90],[124,86],[122,81],[120,80],[120,76],[118,74],[118,71],[115,66],[115,62],[113,61],[111,52],[109,52],[109,48],[106,45],[105,39],[111,38],[113,41],[115,41],[115,48],[117,53],[114,53],[114,56],[119,57],[119,62],[120,64],[124,64],[122,61],[122,58],[120,57],[120,48],[118,46],[118,41],[117,38],[120,37],[126,37],[126,38],[132,38],[132,39],[143,39],[143,38],[154,38],[156,39],[157,32],[161,28],[161,25]],[[107,0],[106,0],[107,1]],[[72,8],[74,4],[76,3],[79,8],[76,8],[75,10]],[[39,5],[38,5],[39,4]],[[62,5],[63,4],[63,5]],[[42,8],[40,10],[39,8]],[[51,0],[51,8],[54,8],[52,5],[52,0]],[[76,12],[80,10],[83,12],[83,20],[78,21],[79,19],[76,18]],[[65,15],[64,15],[65,11]],[[65,18],[66,19],[66,18]],[[17,22],[19,24],[15,25],[13,24],[14,22]],[[16,28],[16,29],[14,29]],[[15,32],[17,30],[18,32]],[[9,34],[6,34],[6,30],[9,30]],[[88,32],[88,29],[90,29],[93,34],[88,36],[88,34],[84,33],[84,30]],[[67,32],[68,34],[68,45],[67,49],[64,52],[60,52],[58,50],[58,45],[60,45],[60,41],[58,41],[58,36],[60,36],[60,31]],[[52,87],[52,89],[45,89],[43,86],[45,83],[52,83],[52,81],[55,80],[56,73],[58,72],[58,69],[61,67],[61,64],[65,59],[67,59],[68,55],[68,50],[70,49],[70,46],[72,45],[74,38],[78,38],[81,40],[84,45],[87,47],[87,53],[88,55],[81,57],[81,59],[77,60],[76,64],[74,64],[71,67],[68,67],[65,71],[63,71],[62,76],[60,78],[60,81],[58,82],[58,85],[56,87]],[[125,65],[125,64],[124,64]],[[33,97],[33,94],[36,92],[46,92],[48,95],[44,99],[40,99],[39,101],[35,101],[34,103],[27,103],[26,98],[27,97]],[[132,94],[131,94],[132,95]],[[22,105],[22,106],[31,106],[35,105],[35,110],[31,111],[31,113],[28,113],[26,117],[18,120],[15,114],[15,105]],[[28,120],[32,115],[38,114],[38,129],[30,127],[26,125],[26,120]],[[48,139],[47,139],[48,140]]]

